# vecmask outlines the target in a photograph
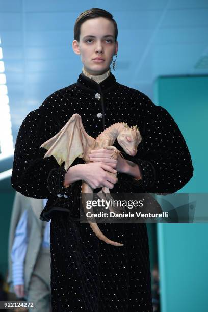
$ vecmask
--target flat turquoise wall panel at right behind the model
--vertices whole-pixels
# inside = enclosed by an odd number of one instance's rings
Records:
[[[208,77],[159,77],[154,102],[178,124],[194,176],[179,192],[207,192]],[[162,312],[207,311],[208,224],[157,224]]]

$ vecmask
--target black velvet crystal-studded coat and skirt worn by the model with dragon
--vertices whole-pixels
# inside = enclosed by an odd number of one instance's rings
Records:
[[[64,188],[63,166],[54,157],[43,159],[46,150],[40,145],[74,113],[94,138],[116,122],[139,127],[138,152],[125,158],[139,165],[142,180],[118,173],[111,192],[176,192],[193,175],[186,142],[170,114],[142,92],[117,83],[112,73],[100,84],[82,73],[28,114],[15,145],[12,186],[28,197],[49,198],[40,218],[51,218],[53,311],[152,311],[146,224],[99,224],[108,238],[124,246],[100,241],[89,224],[77,221],[82,182]],[[78,163],[83,161],[72,165]]]

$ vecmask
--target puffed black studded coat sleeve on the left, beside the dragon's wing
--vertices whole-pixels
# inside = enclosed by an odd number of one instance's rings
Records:
[[[11,177],[13,188],[21,194],[32,198],[48,198],[51,194],[63,196],[70,193],[71,187],[63,186],[64,168],[58,165],[53,156],[44,159],[46,149],[40,148],[42,143],[55,134],[53,117],[46,118],[44,110],[40,108],[30,112],[22,122],[15,144]],[[53,175],[50,174],[52,170]]]

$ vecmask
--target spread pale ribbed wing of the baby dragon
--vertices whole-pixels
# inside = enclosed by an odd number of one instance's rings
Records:
[[[73,114],[65,126],[40,147],[48,150],[44,158],[53,155],[60,166],[65,162],[64,169],[67,171],[77,157],[84,157],[87,148],[94,142],[95,139],[86,133],[81,116]]]

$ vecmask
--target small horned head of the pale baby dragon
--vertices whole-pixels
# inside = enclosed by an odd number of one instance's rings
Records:
[[[119,145],[131,156],[136,155],[137,147],[142,140],[139,129],[136,126],[129,127],[123,122],[123,128],[117,137]]]

